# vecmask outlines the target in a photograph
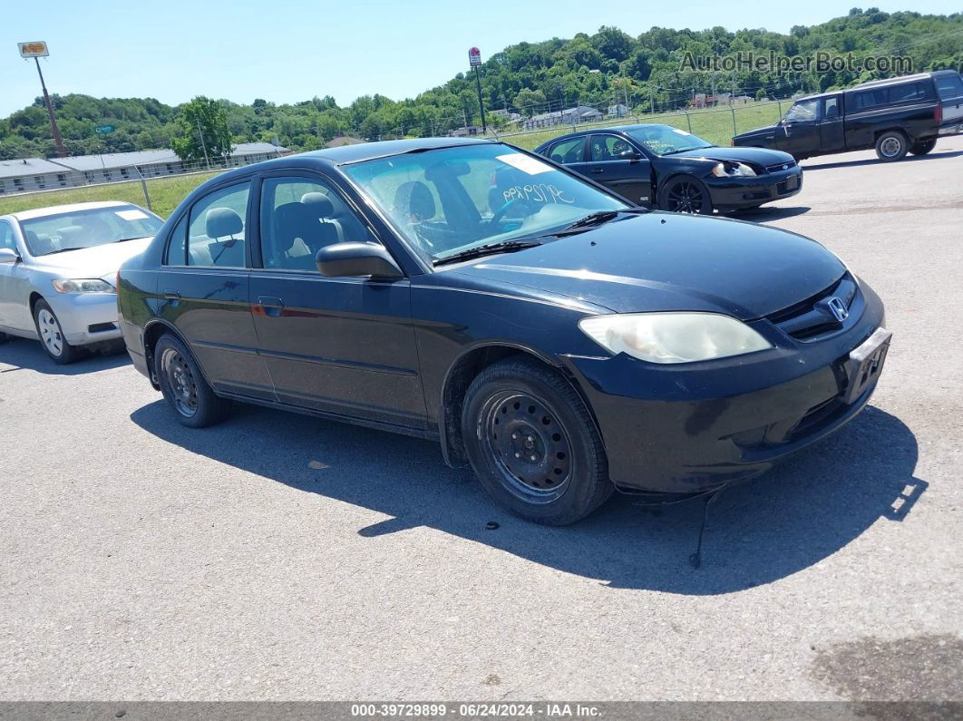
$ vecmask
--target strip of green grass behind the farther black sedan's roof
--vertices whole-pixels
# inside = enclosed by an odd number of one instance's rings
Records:
[[[787,111],[791,101],[782,103],[783,112]],[[681,130],[688,130],[691,133],[704,138],[716,145],[728,145],[734,135],[744,133],[746,130],[772,125],[779,120],[779,104],[775,102],[751,103],[749,105],[738,106],[736,109],[736,133],[733,132],[733,113],[729,108],[722,110],[700,110],[693,111],[688,118],[684,113],[666,113],[655,116],[630,116],[620,120],[606,120],[600,123],[585,123],[576,125],[576,130],[586,130],[587,128],[598,127],[607,128],[616,125],[634,125],[639,122],[659,122],[671,125]],[[529,150],[537,145],[560,135],[572,132],[571,125],[557,125],[554,128],[525,133],[522,135],[503,135],[502,139],[513,145],[524,147]]]

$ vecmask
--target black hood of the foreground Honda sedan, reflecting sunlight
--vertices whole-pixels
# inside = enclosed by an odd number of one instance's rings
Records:
[[[749,222],[649,213],[453,269],[618,313],[748,321],[815,296],[846,267],[809,238]]]

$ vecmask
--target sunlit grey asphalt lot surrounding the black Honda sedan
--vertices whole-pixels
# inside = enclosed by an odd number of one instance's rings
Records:
[[[126,355],[0,346],[0,699],[963,699],[963,138],[803,165],[745,218],[872,284],[888,367],[723,494],[697,571],[700,502],[539,528],[435,444],[192,431]]]

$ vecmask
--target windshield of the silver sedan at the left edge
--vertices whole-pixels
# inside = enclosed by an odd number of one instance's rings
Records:
[[[34,257],[145,238],[157,233],[163,224],[162,219],[136,205],[111,205],[20,220],[27,248]]]

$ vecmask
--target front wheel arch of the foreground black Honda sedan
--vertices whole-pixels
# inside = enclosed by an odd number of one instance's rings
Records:
[[[445,463],[453,468],[468,464],[464,438],[461,435],[461,411],[465,394],[472,381],[489,366],[512,356],[523,356],[550,368],[565,379],[585,402],[592,423],[598,428],[595,413],[586,399],[585,393],[571,373],[558,360],[529,346],[509,341],[491,341],[466,348],[449,366],[442,383],[441,403],[438,409],[438,434],[441,440],[441,454]],[[601,432],[599,433],[601,437]]]

